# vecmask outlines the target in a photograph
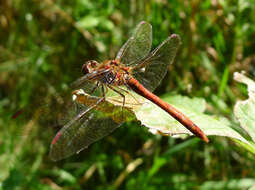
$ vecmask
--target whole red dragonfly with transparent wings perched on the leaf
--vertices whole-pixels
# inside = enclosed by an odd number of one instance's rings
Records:
[[[166,111],[194,135],[209,142],[203,131],[187,116],[152,93],[166,75],[168,66],[174,61],[180,42],[179,35],[172,34],[151,51],[152,26],[142,21],[135,28],[134,34],[121,47],[115,59],[101,63],[90,60],[83,64],[83,76],[72,86],[97,96],[92,102],[85,100],[85,104],[78,103],[78,106],[76,104],[74,108],[76,111],[70,116],[71,119],[52,140],[50,157],[53,160],[61,160],[79,153],[125,122],[125,119],[112,117],[117,114],[114,113],[114,108],[110,109],[112,115],[109,113],[107,115],[106,108],[103,111],[106,114],[100,112],[100,109],[102,111],[106,106],[105,94],[109,89],[119,94],[122,107],[127,103],[126,95],[130,94],[129,91],[135,92]],[[77,95],[78,92],[80,91],[75,90],[73,94]],[[123,114],[126,114],[124,109],[121,115]]]

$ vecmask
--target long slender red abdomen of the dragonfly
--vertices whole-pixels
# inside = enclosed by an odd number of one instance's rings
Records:
[[[169,113],[172,117],[174,117],[177,121],[179,121],[184,127],[186,127],[189,131],[191,131],[194,135],[201,138],[205,142],[209,142],[207,136],[203,133],[203,131],[194,124],[187,116],[178,111],[176,108],[171,106],[170,104],[161,100],[158,96],[151,93],[147,90],[142,84],[140,84],[136,79],[130,78],[127,80],[128,86],[134,90],[137,94],[143,96],[144,98],[152,101],[160,108]]]

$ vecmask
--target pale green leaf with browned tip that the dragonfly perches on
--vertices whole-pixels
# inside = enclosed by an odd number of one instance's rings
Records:
[[[88,100],[92,99],[92,97],[87,94],[83,94],[83,96],[80,95],[80,99],[82,97],[86,97],[86,101],[82,101],[83,104],[86,105],[88,105],[90,102]],[[140,104],[136,105],[135,99],[136,101],[139,101]],[[204,99],[188,98],[180,95],[165,95],[162,99],[188,116],[199,128],[203,130],[206,135],[234,138],[252,148],[252,145],[246,139],[244,139],[241,134],[231,128],[231,123],[228,119],[224,117],[210,116],[203,113],[206,108],[206,102]],[[122,98],[119,97],[119,95],[115,92],[110,91],[106,96],[104,105],[102,106],[104,109],[101,109],[101,111],[109,114],[108,108],[114,106],[119,110],[118,112],[121,112],[122,104]],[[128,110],[130,112],[128,112]],[[116,121],[119,120],[122,122],[127,118],[136,118],[141,122],[143,126],[149,128],[150,132],[152,133],[159,133],[176,137],[180,137],[182,134],[193,135],[182,124],[180,124],[160,107],[133,92],[126,94],[125,107],[122,111],[125,111],[125,113],[129,113],[130,115],[125,116],[125,114],[122,115],[111,112],[109,116]]]

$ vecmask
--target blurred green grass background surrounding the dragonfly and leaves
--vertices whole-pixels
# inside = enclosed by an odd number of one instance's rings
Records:
[[[84,61],[114,58],[141,20],[153,26],[154,48],[171,33],[182,38],[155,93],[202,97],[208,113],[232,119],[235,102],[247,97],[233,72],[255,76],[254,11],[254,0],[1,0],[0,189],[254,185],[254,155],[233,141],[154,136],[138,123],[52,162],[49,144],[58,128],[39,119],[40,107],[52,105],[49,99],[81,76]],[[20,108],[25,114],[11,119]],[[54,123],[59,111],[55,105],[50,110]]]

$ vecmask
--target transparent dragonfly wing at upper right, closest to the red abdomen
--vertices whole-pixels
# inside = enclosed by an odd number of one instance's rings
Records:
[[[181,39],[173,34],[163,41],[141,64],[133,69],[133,76],[153,91],[162,81],[168,66],[174,61]]]

